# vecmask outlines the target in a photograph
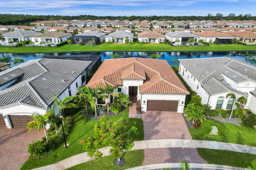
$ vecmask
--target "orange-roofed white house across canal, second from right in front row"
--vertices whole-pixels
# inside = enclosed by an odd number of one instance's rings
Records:
[[[213,43],[218,40],[220,44],[231,44],[234,37],[232,35],[216,31],[195,32],[193,34],[199,35],[200,39],[204,42]]]

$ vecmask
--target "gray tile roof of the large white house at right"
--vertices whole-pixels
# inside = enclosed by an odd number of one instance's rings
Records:
[[[201,82],[210,94],[218,94],[227,91],[236,91],[223,76],[235,82],[255,81],[256,66],[246,63],[240,59],[228,57],[202,58],[202,59],[180,59],[185,68]]]

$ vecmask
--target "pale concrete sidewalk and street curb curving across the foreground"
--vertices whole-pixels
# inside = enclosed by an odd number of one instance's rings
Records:
[[[246,145],[238,145],[232,143],[223,143],[223,142],[215,142],[215,141],[198,141],[198,140],[182,140],[182,139],[159,139],[159,140],[148,140],[148,141],[136,141],[134,142],[134,147],[132,150],[139,150],[139,149],[154,149],[154,148],[206,148],[206,149],[218,149],[218,150],[230,150],[234,152],[244,152],[249,154],[256,154],[256,147],[250,147]],[[102,148],[100,149],[103,152],[103,156],[110,155],[110,148]],[[84,162],[94,160],[94,158],[90,158],[87,156],[86,152],[77,154],[75,156],[71,156],[66,158],[60,162],[55,164],[43,166],[40,168],[35,168],[33,170],[65,170],[77,164],[82,164]],[[173,162],[172,165],[176,165]],[[189,162],[188,162],[189,163]],[[209,164],[198,164],[202,167],[206,167]],[[204,165],[204,166],[203,166]],[[152,165],[151,165],[152,166]],[[211,166],[211,165],[210,165]],[[214,165],[216,166],[216,165]],[[136,167],[137,169],[131,170],[150,170],[150,168],[143,168],[144,166]],[[150,167],[150,165],[145,166]],[[160,167],[160,164],[159,164]],[[173,166],[174,167],[174,166]],[[176,167],[176,166],[175,166]],[[175,168],[174,167],[174,168]],[[223,167],[223,168],[220,168]],[[172,168],[172,167],[169,167]],[[208,168],[208,167],[207,167]],[[152,167],[151,169],[157,169],[157,167]],[[210,168],[208,168],[210,169]],[[216,169],[216,167],[215,167]],[[226,166],[219,165],[217,169],[228,169]],[[242,170],[244,168],[230,168],[230,169],[239,169]]]

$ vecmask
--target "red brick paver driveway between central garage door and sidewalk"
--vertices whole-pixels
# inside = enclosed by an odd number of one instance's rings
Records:
[[[144,140],[192,139],[182,113],[147,111],[143,114]]]

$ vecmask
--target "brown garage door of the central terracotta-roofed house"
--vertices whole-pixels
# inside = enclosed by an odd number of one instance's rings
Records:
[[[177,111],[178,103],[176,100],[148,100],[147,111]]]

